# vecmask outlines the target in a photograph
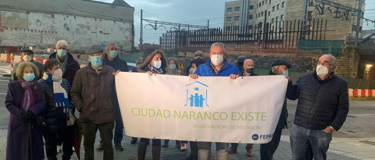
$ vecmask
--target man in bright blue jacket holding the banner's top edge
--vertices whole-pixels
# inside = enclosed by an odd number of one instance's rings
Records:
[[[240,71],[237,66],[230,64],[226,58],[225,44],[216,42],[211,45],[211,60],[198,66],[194,74],[189,74],[192,79],[198,79],[199,76],[228,77],[237,79],[240,77]],[[211,159],[211,142],[199,142],[201,147],[198,151],[199,160]],[[228,143],[216,142],[216,160],[228,160]]]

